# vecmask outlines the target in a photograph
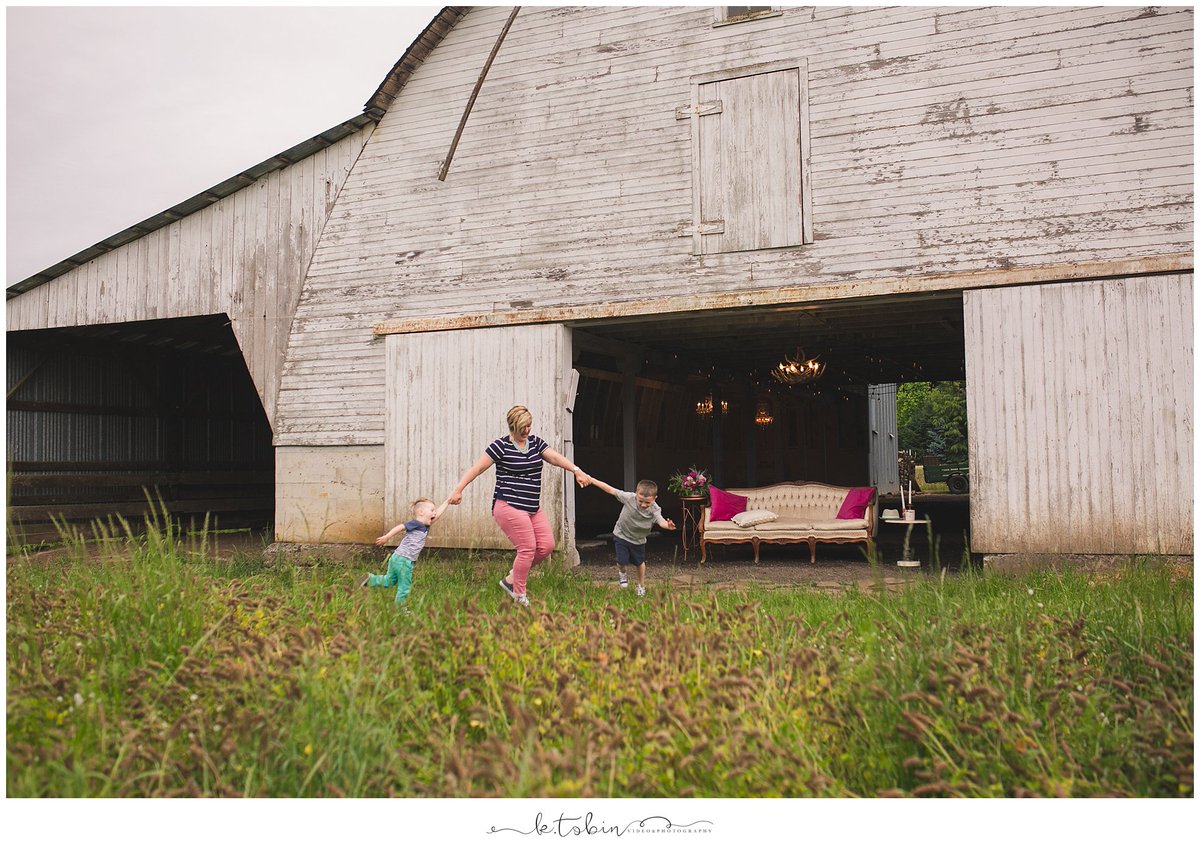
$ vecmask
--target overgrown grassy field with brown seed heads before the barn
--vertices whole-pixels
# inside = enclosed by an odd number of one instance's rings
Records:
[[[498,558],[7,561],[10,797],[1190,797],[1193,577],[650,587]]]

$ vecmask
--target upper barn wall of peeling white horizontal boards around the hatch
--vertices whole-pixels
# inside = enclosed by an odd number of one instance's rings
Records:
[[[376,323],[1189,265],[1190,8],[785,7],[713,26],[712,7],[523,7],[439,182],[508,13],[467,13],[348,179],[293,326],[278,443],[384,440]],[[706,74],[790,60],[806,68],[814,241],[697,256],[698,118],[677,108]]]

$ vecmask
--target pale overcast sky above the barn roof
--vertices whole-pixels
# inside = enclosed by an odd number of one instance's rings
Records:
[[[438,8],[8,7],[6,284],[358,115]]]

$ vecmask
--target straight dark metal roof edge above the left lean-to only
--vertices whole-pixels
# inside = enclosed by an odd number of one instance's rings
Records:
[[[143,220],[142,222],[138,222],[134,226],[130,226],[128,228],[125,228],[118,232],[116,234],[113,234],[112,236],[106,238],[100,242],[89,246],[82,252],[76,252],[70,258],[60,260],[53,266],[46,268],[41,272],[35,272],[28,278],[23,278],[16,284],[11,284],[6,289],[5,301],[14,299],[16,296],[19,296],[23,293],[28,293],[34,288],[41,287],[47,282],[54,281],[62,274],[70,272],[71,270],[78,266],[83,266],[89,260],[94,260],[102,254],[112,252],[114,248],[120,248],[127,242],[132,242],[138,238],[143,238],[146,234],[150,234],[151,232],[158,230],[163,226],[169,226],[172,222],[178,222],[179,220],[182,220],[185,216],[194,214],[197,210],[203,210],[204,208],[208,208],[210,204],[220,202],[221,199],[227,198],[229,196],[233,196],[239,190],[244,190],[250,185],[254,184],[264,175],[287,168],[288,166],[293,166],[294,163],[300,162],[305,157],[311,157],[317,151],[326,149],[334,143],[337,143],[344,139],[346,137],[350,136],[352,133],[356,133],[364,127],[373,125],[374,122],[376,122],[374,118],[367,115],[366,113],[362,113],[361,115],[355,115],[350,119],[347,119],[340,125],[334,125],[328,131],[322,131],[317,136],[311,137],[310,139],[305,139],[302,143],[293,145],[286,151],[281,151],[280,154],[275,155],[274,157],[269,157],[268,160],[264,160],[262,163],[258,163],[257,166],[252,166],[248,169],[244,169],[242,172],[239,172],[236,175],[227,178],[226,180],[221,181],[216,186],[209,187],[208,190],[204,190],[203,192],[199,192],[192,196],[191,198],[184,199],[179,204],[168,208],[161,214],[156,214],[146,220]]]

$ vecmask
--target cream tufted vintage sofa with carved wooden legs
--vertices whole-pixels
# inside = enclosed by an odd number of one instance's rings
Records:
[[[817,561],[817,542],[836,542],[866,546],[868,557],[875,554],[875,533],[878,525],[878,499],[874,489],[870,493],[862,518],[838,518],[850,486],[829,486],[823,482],[779,482],[757,488],[728,488],[725,492],[743,495],[746,499],[746,513],[756,510],[768,510],[779,517],[774,521],[742,527],[734,521],[713,521],[713,506],[724,503],[713,500],[704,507],[700,524],[701,563],[708,559],[709,545],[733,545],[749,542],[754,547],[754,561],[758,563],[758,546],[763,542],[775,545],[799,545],[806,542],[811,563]],[[864,489],[858,489],[859,501],[865,500]],[[762,515],[761,512],[756,515]],[[734,516],[737,517],[737,516]],[[739,518],[743,523],[752,517]]]

